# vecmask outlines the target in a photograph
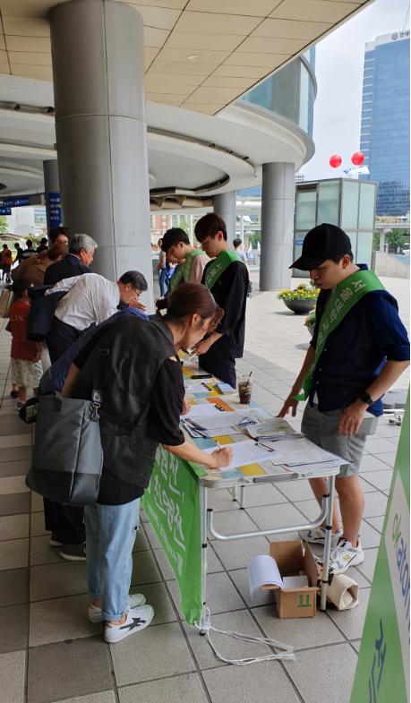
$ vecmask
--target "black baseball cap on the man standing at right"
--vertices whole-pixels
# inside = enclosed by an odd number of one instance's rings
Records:
[[[349,236],[340,227],[323,222],[307,232],[301,256],[289,268],[309,271],[327,259],[342,259],[346,253],[353,256]]]

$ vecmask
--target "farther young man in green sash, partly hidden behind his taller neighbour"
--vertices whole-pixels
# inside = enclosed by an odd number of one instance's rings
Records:
[[[173,291],[182,283],[201,283],[202,274],[209,257],[195,249],[184,229],[172,227],[167,229],[161,244],[161,251],[167,256],[173,256],[178,261],[178,268],[170,279],[170,290]]]

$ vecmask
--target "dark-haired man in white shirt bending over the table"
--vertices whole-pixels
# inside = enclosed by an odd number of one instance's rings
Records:
[[[47,294],[64,290],[68,292],[59,300],[52,328],[47,334],[52,363],[91,325],[116,313],[119,304],[133,304],[133,307],[145,310],[139,298],[147,290],[147,281],[139,271],[127,271],[116,282],[98,273],[87,273],[59,281],[47,290]]]

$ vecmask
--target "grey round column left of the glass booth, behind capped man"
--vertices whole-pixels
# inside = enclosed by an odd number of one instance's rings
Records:
[[[294,246],[294,164],[262,165],[260,289],[289,287]]]

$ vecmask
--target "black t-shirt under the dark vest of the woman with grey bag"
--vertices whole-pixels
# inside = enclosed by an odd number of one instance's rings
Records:
[[[77,368],[82,369],[91,349],[106,333],[105,328],[98,330],[81,349],[73,362]],[[150,401],[151,437],[162,444],[178,446],[184,443],[184,434],[180,429],[184,392],[181,364],[166,359],[158,370]],[[140,498],[143,493],[140,486],[123,481],[107,470],[106,466],[103,467],[97,500],[100,505],[124,505]]]

